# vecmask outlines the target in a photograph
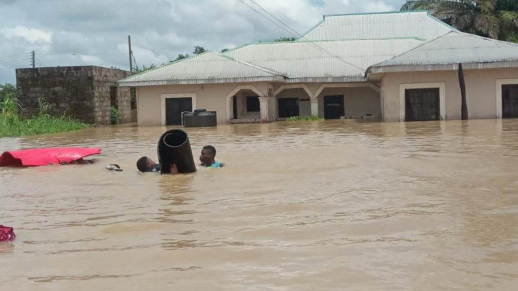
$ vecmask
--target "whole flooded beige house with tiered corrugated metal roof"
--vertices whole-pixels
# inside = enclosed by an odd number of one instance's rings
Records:
[[[469,118],[518,117],[518,45],[410,11],[324,16],[295,41],[207,52],[119,84],[136,87],[139,125],[173,125],[194,108],[219,123],[460,119],[461,82]]]

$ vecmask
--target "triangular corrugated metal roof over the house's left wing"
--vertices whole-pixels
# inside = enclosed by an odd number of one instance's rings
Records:
[[[120,82],[124,86],[248,81],[282,81],[284,77],[270,69],[207,52],[143,72]]]

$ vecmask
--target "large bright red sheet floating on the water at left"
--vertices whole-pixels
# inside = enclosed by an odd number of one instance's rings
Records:
[[[20,151],[6,151],[0,155],[2,166],[46,166],[68,164],[79,159],[100,154],[99,148],[37,148]]]

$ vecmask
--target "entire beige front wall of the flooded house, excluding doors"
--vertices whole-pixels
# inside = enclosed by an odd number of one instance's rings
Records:
[[[469,118],[490,119],[496,118],[498,80],[518,79],[518,68],[465,70],[464,75]],[[381,93],[377,92],[376,88],[368,86],[325,88],[318,95],[319,117],[324,117],[324,96],[343,95],[346,117],[361,118],[367,114],[380,117],[383,111],[384,121],[399,121],[401,88],[420,83],[444,84],[445,119],[461,118],[461,90],[457,71],[454,70],[386,73],[381,80]],[[239,86],[250,85],[257,92],[250,90],[249,87],[243,87],[246,89],[236,91]],[[307,83],[305,85],[312,94],[315,94],[322,84]],[[246,112],[246,96],[267,96],[268,94],[271,96],[271,92],[277,90],[280,86],[278,83],[271,86],[268,82],[141,86],[137,88],[138,125],[162,125],[161,96],[164,94],[173,94],[168,96],[192,94],[195,96],[193,102],[195,107],[217,111],[218,123],[220,124],[227,122],[227,100],[231,100],[227,97],[236,94],[238,98],[238,118],[258,120],[261,119],[260,112]],[[299,115],[310,115],[311,102],[300,101],[300,99],[309,97],[303,88],[284,89],[276,97],[269,97],[268,120],[275,121],[278,117],[278,98],[299,98]]]

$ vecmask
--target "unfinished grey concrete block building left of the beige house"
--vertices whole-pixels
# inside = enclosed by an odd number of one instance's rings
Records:
[[[110,107],[120,111],[120,122],[136,121],[131,91],[117,81],[129,71],[97,66],[16,69],[18,99],[22,113],[38,112],[38,99],[52,105],[51,114],[70,115],[90,124],[111,124]]]

